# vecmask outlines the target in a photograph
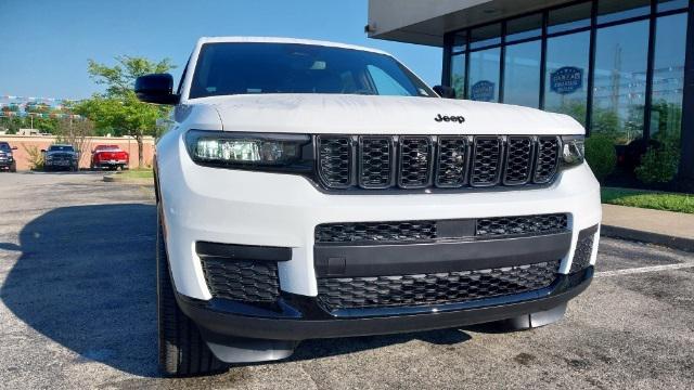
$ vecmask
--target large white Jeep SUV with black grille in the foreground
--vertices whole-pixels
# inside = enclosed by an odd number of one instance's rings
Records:
[[[600,186],[566,115],[442,99],[377,50],[203,38],[156,144],[159,363],[561,320],[593,276]]]

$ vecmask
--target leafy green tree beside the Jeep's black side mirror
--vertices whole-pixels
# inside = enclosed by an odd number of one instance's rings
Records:
[[[114,66],[89,60],[89,76],[95,83],[105,86],[106,91],[81,101],[75,112],[94,121],[99,128],[111,129],[115,135],[133,136],[138,143],[138,164],[142,167],[142,139],[156,133],[156,120],[167,116],[170,108],[140,102],[132,90],[134,80],[146,74],[167,73],[176,66],[169,58],[153,62],[123,55],[115,60]]]

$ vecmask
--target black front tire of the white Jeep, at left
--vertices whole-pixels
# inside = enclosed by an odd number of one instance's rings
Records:
[[[176,303],[168,257],[157,214],[156,268],[159,369],[167,376],[184,377],[219,373],[228,365],[211,353],[197,326]]]

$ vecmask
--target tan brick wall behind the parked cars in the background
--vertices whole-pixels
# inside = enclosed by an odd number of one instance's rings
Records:
[[[50,145],[55,143],[55,136],[52,135],[0,135],[0,141],[7,141],[10,146],[16,146],[17,150],[13,151],[14,159],[17,161],[17,170],[28,170],[29,160],[27,148],[36,147],[39,151],[46,150]],[[128,152],[130,155],[130,168],[138,167],[138,143],[134,139],[126,136],[90,136],[86,141],[85,151],[79,158],[80,168],[89,168],[89,161],[91,159],[91,151],[97,145],[118,145],[121,150]],[[154,139],[145,138],[143,140],[144,165],[151,166],[152,158],[154,156]]]

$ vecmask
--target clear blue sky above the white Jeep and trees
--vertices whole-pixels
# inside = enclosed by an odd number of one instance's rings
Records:
[[[428,84],[441,49],[367,38],[368,0],[0,0],[0,96],[83,99],[87,60],[169,57],[176,80],[197,38],[274,36],[385,50]]]

